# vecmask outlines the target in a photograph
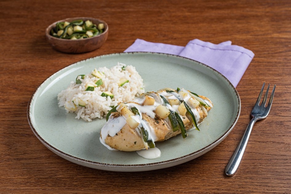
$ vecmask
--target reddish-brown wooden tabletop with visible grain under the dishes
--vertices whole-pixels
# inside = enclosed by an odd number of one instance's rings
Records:
[[[286,1],[1,1],[0,193],[290,193],[291,2]],[[106,43],[64,54],[45,29],[88,16],[110,26]],[[185,46],[189,40],[231,40],[255,53],[237,91],[241,115],[228,137],[184,164],[147,172],[107,172],[71,163],[48,150],[27,121],[34,90],[77,61],[123,52],[136,38]],[[271,112],[255,124],[237,173],[224,174],[250,120],[263,82],[277,84]]]

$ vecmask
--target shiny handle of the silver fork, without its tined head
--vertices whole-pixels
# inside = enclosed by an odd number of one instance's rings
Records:
[[[231,156],[228,164],[226,165],[225,174],[227,176],[233,176],[234,173],[237,171],[237,168],[238,168],[239,164],[241,163],[241,158],[244,155],[245,147],[248,143],[249,136],[250,136],[251,131],[253,129],[253,125],[255,124],[256,121],[257,121],[256,117],[253,117],[253,119],[251,119],[248,127],[245,130],[245,134],[243,135],[240,143],[237,146],[237,149],[235,150],[235,152]]]

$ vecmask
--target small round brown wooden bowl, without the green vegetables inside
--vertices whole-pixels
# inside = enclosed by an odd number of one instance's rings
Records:
[[[56,26],[58,22],[72,22],[74,20],[82,19],[84,21],[90,20],[94,24],[98,26],[99,23],[103,23],[105,26],[104,31],[91,38],[84,38],[84,39],[77,39],[77,40],[70,40],[70,39],[62,39],[62,38],[55,38],[50,35],[50,30]],[[96,18],[66,18],[60,20],[58,22],[54,22],[49,27],[46,28],[46,39],[51,44],[51,46],[57,50],[64,53],[86,53],[90,51],[94,51],[100,48],[108,37],[108,25],[105,21]]]

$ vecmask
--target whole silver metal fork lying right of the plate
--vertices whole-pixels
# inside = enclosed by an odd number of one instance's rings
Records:
[[[255,122],[257,120],[261,120],[261,119],[267,118],[267,116],[268,116],[268,114],[270,112],[276,85],[273,88],[273,91],[272,91],[272,94],[270,96],[269,103],[268,103],[267,106],[266,106],[266,101],[267,101],[267,96],[268,96],[270,84],[269,84],[269,86],[267,88],[266,94],[264,96],[264,99],[263,99],[261,105],[259,105],[259,103],[261,101],[261,96],[262,96],[264,87],[265,87],[265,83],[263,84],[263,87],[261,89],[261,92],[259,94],[257,102],[256,102],[256,104],[253,107],[253,110],[251,112],[251,115],[252,115],[253,118],[249,122],[249,125],[245,130],[245,134],[243,135],[243,137],[241,139],[241,142],[238,144],[237,149],[233,153],[233,156],[230,158],[228,164],[226,165],[225,174],[227,176],[233,176],[234,173],[237,171],[237,168],[238,168],[239,164],[241,163],[241,158],[242,158],[242,156],[243,156],[243,154],[245,152],[245,147],[246,147],[246,144],[248,143],[249,136],[251,134],[251,131],[252,131],[252,128],[253,128]]]

